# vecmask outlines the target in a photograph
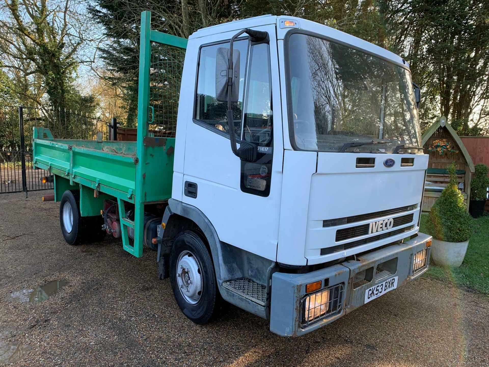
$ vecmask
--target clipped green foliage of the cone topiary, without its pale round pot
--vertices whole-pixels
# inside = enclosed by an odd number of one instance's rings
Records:
[[[426,223],[427,233],[441,241],[464,242],[472,233],[472,217],[467,212],[464,196],[457,186],[455,162],[446,167],[450,183],[431,207]]]

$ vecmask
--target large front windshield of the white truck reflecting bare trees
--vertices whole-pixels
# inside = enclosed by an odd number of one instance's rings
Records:
[[[418,110],[407,69],[301,33],[290,35],[288,49],[294,148],[393,153],[400,145],[420,146]],[[422,150],[413,151],[418,152]]]

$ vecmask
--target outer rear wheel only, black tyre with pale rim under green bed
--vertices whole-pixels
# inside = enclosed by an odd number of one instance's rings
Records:
[[[60,226],[68,245],[82,243],[84,226],[80,215],[80,192],[66,190],[60,202]]]

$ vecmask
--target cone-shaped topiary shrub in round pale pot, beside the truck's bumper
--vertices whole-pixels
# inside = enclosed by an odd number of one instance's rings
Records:
[[[426,228],[433,236],[431,256],[436,265],[459,267],[472,234],[472,217],[457,186],[455,162],[447,168],[450,183],[431,207]]]

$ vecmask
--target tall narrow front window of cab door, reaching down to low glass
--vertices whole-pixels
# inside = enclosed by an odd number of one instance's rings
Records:
[[[244,102],[243,138],[258,145],[258,161],[241,162],[241,190],[270,193],[273,153],[270,47],[251,46]]]

